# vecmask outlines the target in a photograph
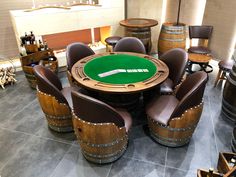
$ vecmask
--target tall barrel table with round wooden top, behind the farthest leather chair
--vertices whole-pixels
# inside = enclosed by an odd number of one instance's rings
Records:
[[[145,46],[146,53],[152,49],[151,27],[156,26],[158,21],[146,18],[129,18],[120,21],[125,27],[125,36],[139,38]]]

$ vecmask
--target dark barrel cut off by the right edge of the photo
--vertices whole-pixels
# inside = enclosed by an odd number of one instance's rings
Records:
[[[236,62],[227,77],[222,99],[222,113],[229,120],[236,122]]]

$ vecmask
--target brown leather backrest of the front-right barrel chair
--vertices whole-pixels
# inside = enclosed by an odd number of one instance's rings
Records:
[[[202,102],[207,80],[208,76],[203,71],[191,74],[184,80],[176,93],[176,98],[180,102],[171,115],[171,118],[181,116],[184,111]]]

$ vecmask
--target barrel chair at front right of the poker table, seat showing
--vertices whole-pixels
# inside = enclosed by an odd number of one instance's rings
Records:
[[[151,137],[158,143],[178,147],[187,144],[198,124],[203,109],[203,93],[207,74],[189,75],[176,95],[154,98],[146,113]]]

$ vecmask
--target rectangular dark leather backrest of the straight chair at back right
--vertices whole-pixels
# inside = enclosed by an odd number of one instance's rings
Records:
[[[189,38],[209,39],[213,26],[189,26]]]

